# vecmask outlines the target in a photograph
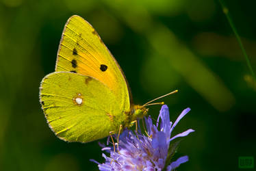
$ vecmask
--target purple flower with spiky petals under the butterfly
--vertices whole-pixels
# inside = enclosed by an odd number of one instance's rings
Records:
[[[188,156],[179,157],[173,161],[172,157],[179,144],[175,139],[184,137],[194,130],[188,129],[171,136],[172,130],[188,111],[190,108],[183,110],[172,124],[168,107],[163,105],[156,125],[153,124],[150,116],[144,118],[147,135],[140,133],[140,129],[138,133],[126,129],[119,137],[118,152],[114,152],[112,147],[104,147],[102,150],[110,153],[110,157],[103,153],[105,163],[92,161],[98,164],[99,170],[174,170],[181,163],[188,161]]]

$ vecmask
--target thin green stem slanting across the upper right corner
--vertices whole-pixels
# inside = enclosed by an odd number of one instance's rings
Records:
[[[231,19],[230,14],[229,14],[229,9],[228,9],[227,6],[223,3],[222,0],[219,0],[219,2],[220,2],[220,5],[221,5],[221,7],[222,7],[222,10],[223,10],[224,14],[225,14],[226,17],[227,17],[227,20],[229,21],[229,25],[231,26],[231,29],[233,30],[233,32],[234,32],[234,34],[235,34],[235,38],[238,40],[238,44],[239,44],[239,46],[240,46],[240,48],[241,48],[241,50],[242,50],[242,53],[243,53],[243,55],[244,55],[244,57],[245,57],[246,64],[247,64],[249,70],[251,71],[251,75],[253,76],[254,81],[256,81],[255,73],[253,72],[253,68],[252,68],[252,66],[251,66],[251,62],[250,62],[250,60],[249,60],[249,58],[248,58],[248,55],[247,55],[247,53],[246,53],[246,51],[245,51],[245,49],[244,49],[244,45],[242,44],[242,41],[241,41],[241,39],[240,39],[240,36],[238,35],[238,31],[237,31],[237,29],[235,28],[235,25],[233,24],[233,21],[232,21],[232,19]]]

